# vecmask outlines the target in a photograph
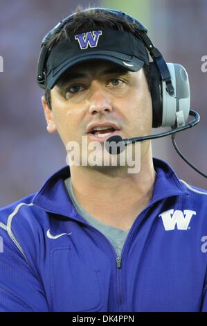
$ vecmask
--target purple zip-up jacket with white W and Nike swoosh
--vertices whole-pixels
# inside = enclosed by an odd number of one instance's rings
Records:
[[[121,257],[75,211],[69,166],[1,209],[0,311],[207,311],[206,193],[154,168]]]

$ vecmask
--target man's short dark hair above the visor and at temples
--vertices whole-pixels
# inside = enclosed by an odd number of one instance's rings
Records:
[[[135,24],[127,21],[127,19],[123,17],[114,16],[111,14],[111,12],[104,12],[97,9],[93,10],[93,8],[88,11],[83,11],[83,8],[78,6],[73,13],[75,13],[75,15],[73,16],[73,19],[71,19],[71,22],[64,25],[62,30],[59,33],[55,34],[48,42],[48,44],[46,44],[46,47],[49,50],[51,50],[62,37],[66,37],[66,39],[70,40],[69,35],[71,33],[75,33],[75,31],[78,31],[78,29],[82,27],[91,28],[98,25],[100,27],[109,27],[118,31],[127,31],[133,35],[136,35],[136,37],[138,36]],[[147,79],[147,85],[149,89],[151,89],[150,67],[144,65],[143,70]],[[48,88],[45,89],[45,99],[46,103],[48,104],[48,108],[52,110],[51,90]]]

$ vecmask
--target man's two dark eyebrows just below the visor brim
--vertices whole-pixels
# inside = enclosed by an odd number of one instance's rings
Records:
[[[106,76],[111,74],[129,74],[129,70],[121,67],[112,67],[102,71],[100,76]],[[60,80],[57,82],[57,86],[62,87],[66,83],[69,83],[70,80],[77,79],[77,78],[85,78],[85,77],[87,77],[87,74],[74,71],[71,74],[68,73],[62,76]]]

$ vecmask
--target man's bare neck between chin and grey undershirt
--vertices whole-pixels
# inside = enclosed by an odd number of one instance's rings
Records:
[[[104,173],[71,166],[73,192],[80,205],[98,221],[129,230],[152,198],[156,177],[152,151],[142,157],[139,173],[120,173],[121,168],[112,168],[113,173]]]

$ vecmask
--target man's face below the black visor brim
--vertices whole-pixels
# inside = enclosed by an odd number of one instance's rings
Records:
[[[48,132],[57,130],[64,146],[70,141],[81,146],[82,136],[87,144],[98,141],[103,146],[110,135],[90,132],[96,123],[114,124],[118,130],[113,135],[123,138],[149,135],[152,130],[152,101],[143,69],[127,71],[104,60],[70,69],[51,90],[52,111],[45,101],[43,105]]]

